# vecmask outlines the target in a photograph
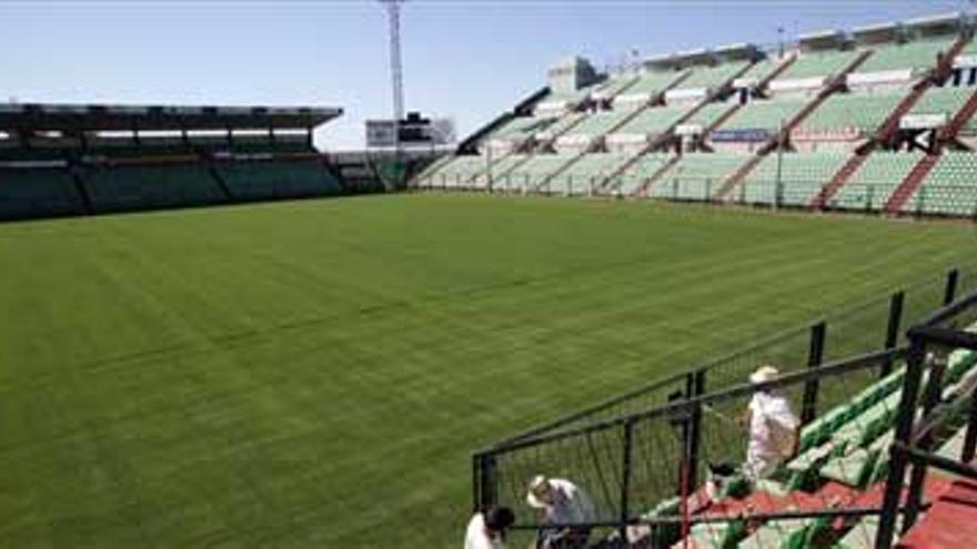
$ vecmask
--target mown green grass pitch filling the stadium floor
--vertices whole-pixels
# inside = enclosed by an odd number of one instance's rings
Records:
[[[437,194],[0,225],[0,547],[459,547],[473,449],[975,252]]]

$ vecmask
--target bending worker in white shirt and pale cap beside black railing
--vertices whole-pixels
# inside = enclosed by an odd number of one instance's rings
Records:
[[[536,547],[541,549],[582,549],[591,537],[591,522],[596,512],[594,502],[580,487],[562,478],[537,475],[526,494],[530,507],[538,509],[544,525]],[[580,525],[580,526],[574,526]]]

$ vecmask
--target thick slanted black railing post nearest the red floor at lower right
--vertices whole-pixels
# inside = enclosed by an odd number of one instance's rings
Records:
[[[903,382],[903,396],[899,399],[899,411],[896,416],[895,440],[906,446],[913,437],[913,421],[916,416],[916,399],[919,383],[923,378],[924,354],[926,344],[918,336],[910,336],[909,352],[906,357],[906,376]],[[879,516],[878,532],[875,538],[876,549],[892,549],[896,530],[896,518],[903,495],[903,480],[906,477],[908,456],[893,445],[889,447],[889,472],[886,479],[885,497]]]

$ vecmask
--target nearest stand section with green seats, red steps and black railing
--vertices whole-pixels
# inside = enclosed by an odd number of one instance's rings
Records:
[[[768,339],[498,441],[474,456],[475,505],[510,505],[516,531],[537,531],[546,525],[520,507],[524,477],[558,470],[590,490],[592,541],[612,547],[969,547],[977,498],[960,490],[977,485],[958,479],[977,481],[977,293],[957,298],[960,275],[946,277],[943,308],[911,321],[906,345],[803,364],[844,339],[853,314],[859,331],[900,332],[900,292],[888,318],[866,322],[872,306],[828,316],[807,358],[804,338]],[[770,354],[800,364],[759,385],[728,376]],[[757,392],[783,395],[803,419],[792,456],[749,478],[722,460],[742,459],[752,435],[732,415]],[[961,532],[934,531],[957,522]]]

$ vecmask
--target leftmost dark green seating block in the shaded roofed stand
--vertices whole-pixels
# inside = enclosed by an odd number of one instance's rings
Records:
[[[80,215],[84,202],[63,169],[0,170],[0,218]]]

